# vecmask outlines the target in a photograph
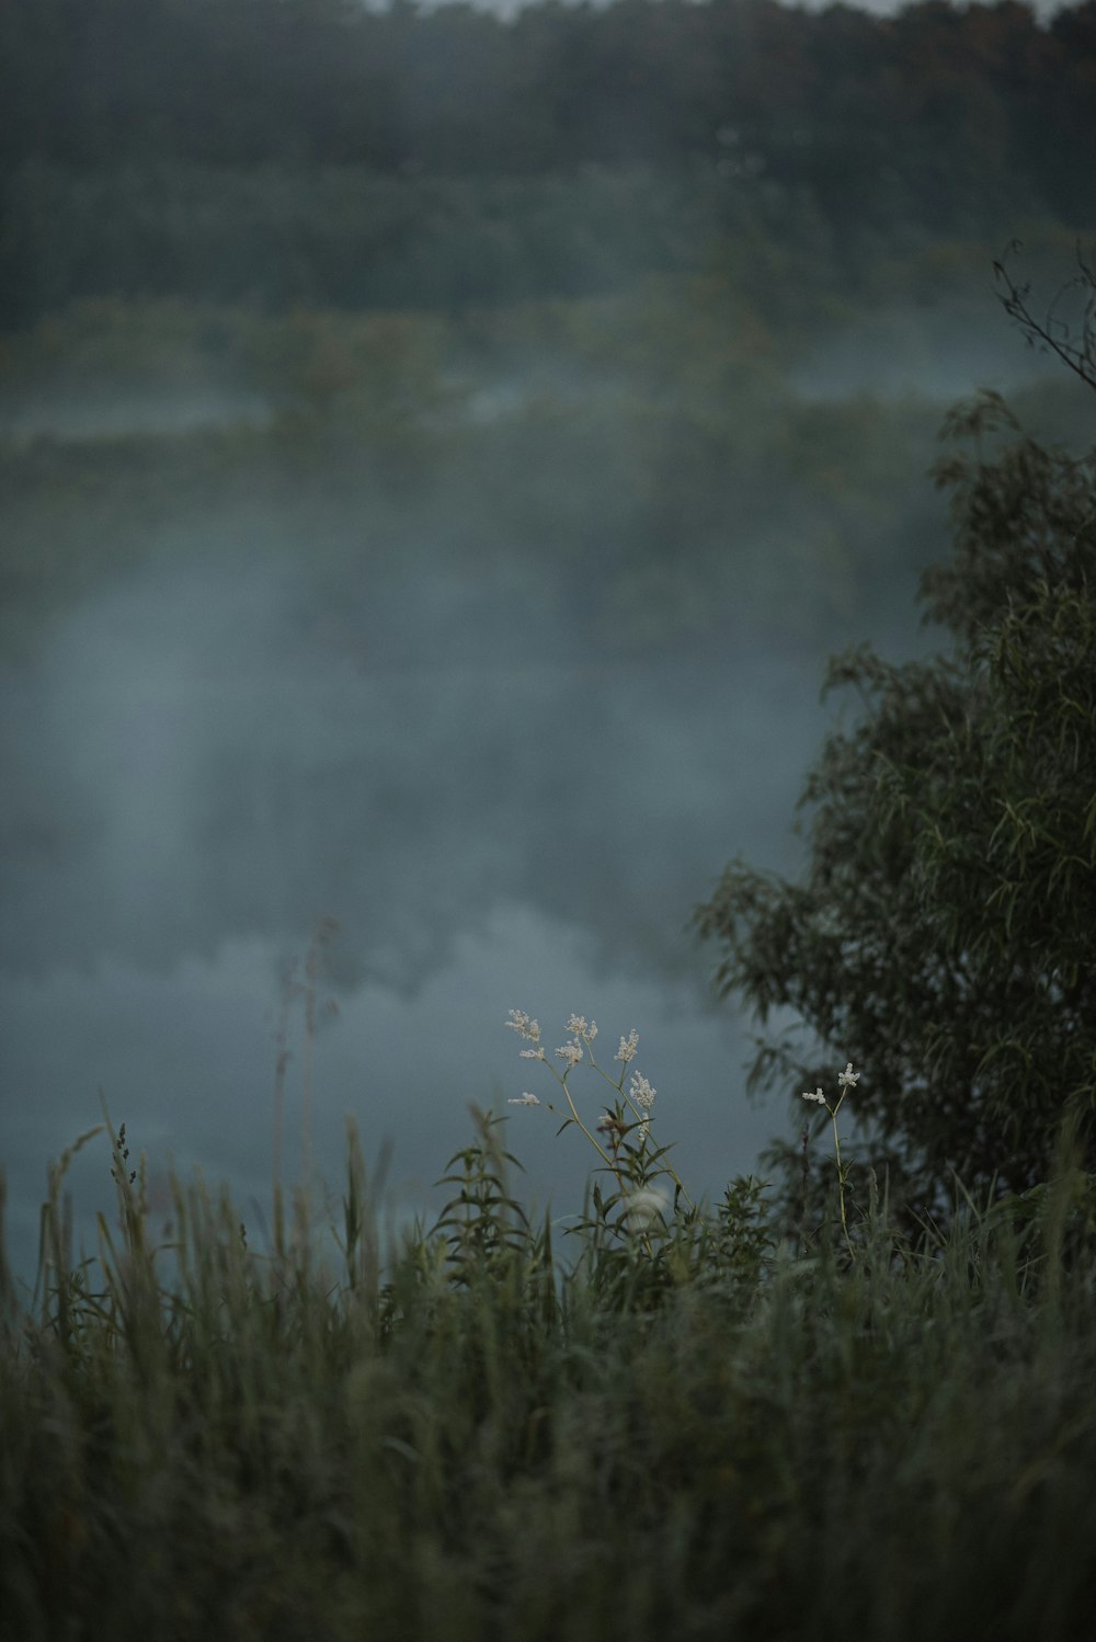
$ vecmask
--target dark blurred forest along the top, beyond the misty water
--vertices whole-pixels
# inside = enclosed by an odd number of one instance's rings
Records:
[[[3,0],[0,314],[453,307],[1096,222],[1096,3]],[[704,232],[697,230],[704,225]]]

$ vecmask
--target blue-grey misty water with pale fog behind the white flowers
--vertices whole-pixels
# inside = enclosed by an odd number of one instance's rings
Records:
[[[871,338],[845,338],[843,363],[835,350],[838,399]],[[932,386],[888,363],[893,391]],[[817,358],[811,373],[819,391]],[[497,381],[466,383],[471,420],[507,422],[543,391],[517,366]],[[126,407],[80,435],[118,437]],[[57,404],[56,432],[72,440],[82,409]],[[169,410],[151,417],[164,432]],[[287,1174],[307,1146],[336,1186],[349,1115],[369,1158],[390,1143],[399,1215],[436,1212],[469,1102],[510,1112],[532,1204],[564,1223],[581,1209],[597,1161],[581,1136],[507,1107],[551,1095],[505,1030],[512,1008],[540,1018],[550,1048],[571,1011],[594,1018],[614,1071],[637,1028],[660,1140],[697,1194],[756,1166],[788,1120],[745,1095],[751,1023],[714,1000],[689,915],[738,852],[796,869],[794,801],[840,711],[819,701],[825,657],[879,634],[855,612],[814,632],[751,624],[732,583],[701,639],[660,634],[651,608],[656,639],[599,649],[592,583],[573,555],[533,573],[518,548],[504,571],[469,575],[445,540],[333,581],[292,519],[180,494],[136,566],[94,578],[7,660],[0,1041],[23,1277],[46,1161],[98,1121],[100,1095],[148,1156],[154,1205],[172,1163],[197,1166],[231,1186],[261,1241],[279,1030]],[[930,642],[912,585],[911,571],[866,596],[891,608],[891,655]],[[320,920],[338,928],[308,982]],[[573,1084],[596,1115],[584,1072]],[[90,1245],[105,1140],[71,1177]]]

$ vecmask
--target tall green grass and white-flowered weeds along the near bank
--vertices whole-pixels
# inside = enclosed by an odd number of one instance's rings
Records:
[[[1091,1635],[1068,1136],[1043,1187],[957,1192],[919,1240],[884,1186],[801,1240],[753,1179],[687,1197],[630,1057],[587,1121],[596,1028],[569,1031],[561,1112],[601,1158],[566,1238],[489,1113],[433,1227],[386,1230],[351,1126],[328,1235],[277,1192],[261,1251],[179,1179],[156,1236],[110,1130],[116,1217],[74,1258],[61,1158],[33,1297],[0,1263],[5,1642]]]

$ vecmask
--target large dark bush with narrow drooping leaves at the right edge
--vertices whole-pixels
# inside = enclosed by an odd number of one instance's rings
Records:
[[[922,1204],[953,1172],[1037,1186],[1065,1113],[1096,1158],[1096,461],[1001,443],[994,394],[945,432],[973,455],[938,468],[955,555],[922,598],[953,654],[830,663],[863,711],[807,778],[806,877],[735,862],[697,913],[724,995],[870,1054],[866,1156]],[[751,1079],[799,1090],[820,1064],[766,1041]]]

